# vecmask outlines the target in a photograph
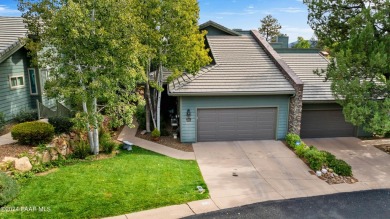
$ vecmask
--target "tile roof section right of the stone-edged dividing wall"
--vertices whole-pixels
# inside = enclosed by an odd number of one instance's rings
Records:
[[[279,53],[287,65],[303,81],[303,101],[334,101],[331,82],[324,76],[313,73],[316,69],[326,69],[329,62],[319,53]]]

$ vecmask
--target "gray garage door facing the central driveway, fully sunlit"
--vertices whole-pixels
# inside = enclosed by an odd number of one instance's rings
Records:
[[[276,108],[199,109],[198,141],[275,139]]]

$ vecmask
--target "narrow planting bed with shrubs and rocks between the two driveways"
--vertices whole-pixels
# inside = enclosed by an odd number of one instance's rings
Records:
[[[358,180],[352,175],[352,167],[344,160],[337,159],[328,151],[320,151],[315,146],[307,146],[296,134],[287,134],[287,145],[313,171],[312,174],[329,184],[355,183]]]

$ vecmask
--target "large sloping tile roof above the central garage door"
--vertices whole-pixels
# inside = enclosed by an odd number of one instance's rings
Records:
[[[215,65],[169,84],[171,95],[293,94],[283,76],[252,35],[207,36]]]

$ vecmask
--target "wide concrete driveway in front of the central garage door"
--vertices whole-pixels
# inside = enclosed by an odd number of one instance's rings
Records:
[[[337,192],[311,175],[280,141],[202,142],[193,147],[211,199],[219,208]]]

